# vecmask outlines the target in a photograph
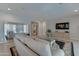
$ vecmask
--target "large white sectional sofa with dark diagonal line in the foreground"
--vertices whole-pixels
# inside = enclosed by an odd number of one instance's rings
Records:
[[[20,42],[21,41],[21,42]],[[54,46],[46,40],[36,39],[23,35],[16,35],[14,39],[16,49],[20,56],[64,56],[64,51]],[[31,49],[29,49],[27,46]]]

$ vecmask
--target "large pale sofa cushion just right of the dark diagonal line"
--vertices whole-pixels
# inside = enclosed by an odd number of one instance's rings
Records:
[[[39,40],[30,40],[28,42],[28,46],[41,56],[51,56],[52,55],[49,43],[47,43],[45,41],[41,42]]]

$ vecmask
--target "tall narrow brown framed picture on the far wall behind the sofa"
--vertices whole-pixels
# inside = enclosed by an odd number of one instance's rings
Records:
[[[37,35],[38,35],[38,23],[31,22],[31,36],[33,39],[35,39]]]

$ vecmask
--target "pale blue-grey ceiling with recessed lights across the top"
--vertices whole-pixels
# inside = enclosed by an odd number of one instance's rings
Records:
[[[11,10],[8,10],[10,8]],[[76,14],[77,3],[0,3],[0,15],[15,17],[18,20],[54,20]],[[77,12],[79,14],[79,12]],[[2,16],[1,16],[2,17]]]

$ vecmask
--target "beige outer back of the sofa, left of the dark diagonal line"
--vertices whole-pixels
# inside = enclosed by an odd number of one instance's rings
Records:
[[[36,53],[34,53],[28,47],[22,44],[19,40],[14,39],[14,44],[20,56],[38,56]]]

